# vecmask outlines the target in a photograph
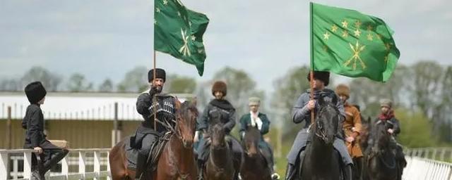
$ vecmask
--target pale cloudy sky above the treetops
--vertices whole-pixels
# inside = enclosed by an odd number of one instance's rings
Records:
[[[156,0],[160,1],[160,0]],[[210,18],[204,36],[206,70],[163,53],[169,73],[210,79],[230,66],[249,72],[258,87],[309,62],[309,1],[182,0]],[[396,32],[399,63],[452,64],[452,1],[315,1],[377,16]],[[95,83],[121,81],[138,65],[152,67],[153,1],[0,1],[0,79],[40,65],[63,77],[81,72]]]

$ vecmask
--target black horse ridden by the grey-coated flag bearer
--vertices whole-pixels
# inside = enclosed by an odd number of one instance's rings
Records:
[[[339,126],[339,111],[332,103],[320,102],[320,110],[309,130],[309,139],[302,167],[301,179],[342,179],[339,153],[333,148]]]

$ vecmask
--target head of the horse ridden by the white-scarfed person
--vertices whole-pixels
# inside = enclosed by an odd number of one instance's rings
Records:
[[[259,139],[261,139],[261,131],[259,131],[257,127],[252,126],[246,127],[246,131],[242,142],[246,155],[248,155],[249,157],[254,157],[255,155],[258,155]]]

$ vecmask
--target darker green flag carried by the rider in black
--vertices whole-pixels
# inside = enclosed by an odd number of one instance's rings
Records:
[[[206,49],[203,34],[209,19],[191,11],[180,0],[154,1],[154,49],[195,65],[200,76],[204,72]]]

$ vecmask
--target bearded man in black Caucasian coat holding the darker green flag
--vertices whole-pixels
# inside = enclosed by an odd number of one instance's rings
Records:
[[[161,94],[163,85],[166,80],[166,72],[160,68],[148,72],[148,82],[150,89],[144,91],[138,96],[136,100],[136,110],[143,116],[144,122],[136,129],[135,136],[131,138],[131,146],[137,148],[138,156],[136,161],[136,179],[141,177],[141,174],[146,169],[148,162],[148,153],[150,153],[153,143],[162,134],[165,134],[169,129],[165,126],[172,126],[175,123],[174,115],[176,113],[173,96]],[[153,99],[155,98],[155,100]],[[154,114],[157,123],[157,131],[154,130]]]

